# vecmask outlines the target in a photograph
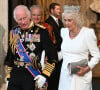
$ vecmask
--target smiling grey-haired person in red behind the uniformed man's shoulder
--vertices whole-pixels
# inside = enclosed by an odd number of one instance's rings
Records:
[[[43,9],[40,5],[32,5],[30,8],[30,13],[31,13],[31,20],[35,24],[40,24],[46,27],[46,29],[49,31],[50,39],[53,40],[53,27],[45,22],[42,22],[42,13]]]

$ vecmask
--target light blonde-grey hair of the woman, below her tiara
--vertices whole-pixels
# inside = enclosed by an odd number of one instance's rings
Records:
[[[67,17],[67,16],[70,16],[76,23],[76,25],[81,28],[83,25],[84,25],[84,18],[83,18],[83,15],[79,12],[77,13],[67,13],[67,12],[64,12],[62,13],[62,22],[63,24],[65,24],[64,22],[64,17]]]

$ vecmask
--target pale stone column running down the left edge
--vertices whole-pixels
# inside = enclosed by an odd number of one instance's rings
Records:
[[[8,46],[8,0],[0,0],[0,90],[7,90],[3,65]]]

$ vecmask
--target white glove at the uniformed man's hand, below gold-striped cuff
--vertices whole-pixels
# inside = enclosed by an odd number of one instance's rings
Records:
[[[46,78],[42,75],[37,75],[34,80],[37,80],[38,88],[41,88],[45,84]]]

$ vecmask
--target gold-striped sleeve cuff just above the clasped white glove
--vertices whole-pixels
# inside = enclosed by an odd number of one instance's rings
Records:
[[[52,64],[46,63],[46,66],[44,67],[42,73],[47,75],[48,77],[50,77],[50,75],[51,75],[52,71],[54,70],[54,68],[55,68],[55,63],[52,63]]]

